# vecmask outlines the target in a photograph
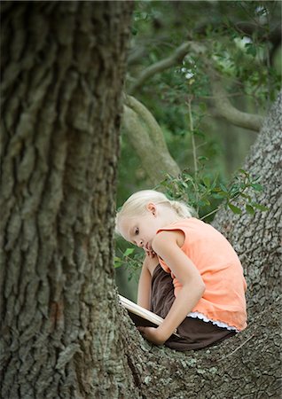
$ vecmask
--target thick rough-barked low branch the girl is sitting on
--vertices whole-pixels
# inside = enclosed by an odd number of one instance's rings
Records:
[[[184,353],[152,346],[124,320],[121,337],[136,381],[136,397],[180,399],[187,392],[192,399],[278,397],[279,385],[274,381],[281,365],[280,313],[276,301],[258,313],[246,331],[217,346]],[[252,395],[247,396],[249,392]]]

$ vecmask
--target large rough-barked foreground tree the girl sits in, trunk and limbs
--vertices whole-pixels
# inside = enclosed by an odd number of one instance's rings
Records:
[[[119,307],[112,266],[129,3],[5,3],[2,11],[2,395],[278,396],[281,97],[248,161],[263,166],[270,211],[239,216],[240,231],[233,216],[218,216],[242,256],[250,225],[262,231],[262,246],[247,244],[251,325],[199,352],[153,347]]]

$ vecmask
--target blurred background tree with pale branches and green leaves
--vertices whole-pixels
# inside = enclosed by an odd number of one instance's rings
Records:
[[[212,158],[213,143],[226,147],[217,155],[222,168],[216,172],[230,175],[280,87],[281,65],[274,62],[281,44],[279,3],[138,1],[133,20],[119,202],[138,186],[158,184],[165,173],[194,168],[192,135],[199,155]],[[215,164],[213,158],[212,172]]]

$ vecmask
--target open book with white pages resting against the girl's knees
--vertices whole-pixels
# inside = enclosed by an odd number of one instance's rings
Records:
[[[129,317],[132,319],[135,325],[143,325],[145,327],[157,327],[163,322],[162,317],[156,315],[150,310],[142,308],[142,306],[139,306],[137,305],[137,303],[134,303],[127,298],[124,298],[124,296],[121,296],[120,294],[119,299],[121,301],[121,305],[128,310]],[[173,335],[179,337],[176,331],[173,333]]]

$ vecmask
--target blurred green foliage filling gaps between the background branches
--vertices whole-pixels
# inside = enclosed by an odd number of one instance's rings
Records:
[[[280,22],[277,1],[136,1],[126,86],[146,67],[171,56],[180,44],[204,43],[232,104],[245,112],[263,114],[281,81],[281,61],[275,62],[278,51],[273,39]],[[130,61],[132,55],[134,61]],[[229,178],[255,139],[254,134],[214,117],[203,59],[192,51],[178,65],[150,77],[135,95],[161,125],[169,152],[182,170],[192,167],[189,96],[193,97],[193,115],[200,113],[194,132],[203,137],[199,155],[210,159],[208,168],[215,174]],[[119,175],[119,203],[131,192],[151,185],[126,137],[121,139]]]

